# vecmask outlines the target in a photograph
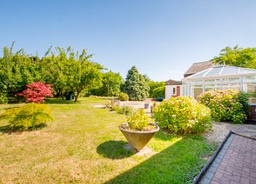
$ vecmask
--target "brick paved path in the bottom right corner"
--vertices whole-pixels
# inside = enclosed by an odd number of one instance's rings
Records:
[[[256,184],[256,140],[232,133],[199,183]]]

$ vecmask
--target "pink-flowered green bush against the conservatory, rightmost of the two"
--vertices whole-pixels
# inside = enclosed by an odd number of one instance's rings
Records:
[[[197,100],[210,108],[214,121],[244,123],[249,113],[248,95],[237,89],[208,91]]]

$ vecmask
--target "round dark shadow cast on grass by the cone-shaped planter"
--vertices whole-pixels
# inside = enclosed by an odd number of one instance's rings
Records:
[[[97,153],[109,159],[123,159],[132,156],[132,152],[124,149],[125,141],[106,141],[97,147]]]

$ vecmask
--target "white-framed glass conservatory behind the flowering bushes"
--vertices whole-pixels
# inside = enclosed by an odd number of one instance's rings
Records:
[[[182,79],[182,96],[197,98],[202,92],[239,89],[247,92],[249,103],[256,105],[256,70],[234,66],[213,66]]]

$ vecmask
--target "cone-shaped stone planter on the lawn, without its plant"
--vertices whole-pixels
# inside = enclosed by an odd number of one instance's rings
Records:
[[[159,127],[157,125],[154,123],[151,123],[150,125],[155,126],[155,129],[148,131],[133,131],[125,128],[129,127],[128,123],[123,123],[121,126],[119,126],[119,130],[124,134],[125,138],[135,152],[140,152],[140,150],[142,150],[146,144],[148,144],[148,141],[150,141],[155,133],[159,131]]]

